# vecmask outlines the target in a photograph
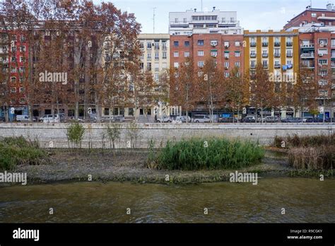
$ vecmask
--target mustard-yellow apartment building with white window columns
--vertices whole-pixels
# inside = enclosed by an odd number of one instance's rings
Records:
[[[257,64],[269,70],[275,90],[281,83],[295,83],[299,69],[298,30],[245,30],[245,71],[253,71]],[[281,110],[281,117],[293,115],[292,110]]]

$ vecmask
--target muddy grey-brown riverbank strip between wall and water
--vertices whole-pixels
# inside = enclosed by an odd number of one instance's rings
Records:
[[[13,172],[26,172],[28,185],[52,182],[139,182],[189,184],[229,181],[235,170],[157,170],[148,168],[149,151],[144,150],[80,150],[54,149],[51,163],[18,165]],[[261,163],[239,172],[257,172],[258,177],[319,177],[319,172],[303,172],[288,165],[285,153],[266,151]],[[168,175],[168,176],[167,176]],[[325,172],[325,176],[333,175]],[[4,184],[2,184],[4,185]],[[7,184],[8,185],[8,184]]]

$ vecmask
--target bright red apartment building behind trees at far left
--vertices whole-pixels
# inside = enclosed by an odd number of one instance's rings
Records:
[[[5,79],[1,81],[0,97],[6,101],[8,118],[15,119],[15,115],[27,115],[28,106],[26,98],[28,78],[28,42],[23,34],[0,33],[0,57]],[[4,108],[0,108],[0,115],[4,115]]]

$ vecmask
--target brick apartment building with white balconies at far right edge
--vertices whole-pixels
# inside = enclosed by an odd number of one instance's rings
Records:
[[[335,6],[308,6],[288,21],[284,28],[299,32],[300,66],[308,67],[315,73],[319,83],[319,112],[321,115],[324,112],[327,117],[335,117]],[[327,102],[331,100],[332,105],[329,105]]]

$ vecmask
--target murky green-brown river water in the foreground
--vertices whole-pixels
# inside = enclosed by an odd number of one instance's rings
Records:
[[[49,215],[49,208],[54,209],[53,215]],[[127,215],[127,208],[131,215]],[[204,208],[208,208],[208,215]],[[266,178],[258,185],[81,182],[1,187],[0,222],[334,223],[335,180]]]

